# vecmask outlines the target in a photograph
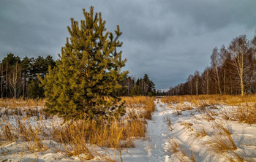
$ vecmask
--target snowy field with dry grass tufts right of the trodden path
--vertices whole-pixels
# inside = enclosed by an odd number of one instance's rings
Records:
[[[255,97],[163,98],[168,161],[256,161]]]

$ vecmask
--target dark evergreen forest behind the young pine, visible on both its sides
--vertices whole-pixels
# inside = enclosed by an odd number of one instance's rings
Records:
[[[46,58],[23,59],[12,53],[7,54],[0,62],[0,97],[1,98],[44,98],[44,89],[40,86],[37,74],[44,78],[48,73],[48,67],[53,69],[56,61],[48,55]],[[148,74],[142,78],[126,76],[120,84],[123,86],[119,90],[118,96],[159,96],[160,91],[156,91],[154,82],[149,79]]]

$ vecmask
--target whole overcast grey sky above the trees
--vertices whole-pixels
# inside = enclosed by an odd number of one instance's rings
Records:
[[[102,12],[108,31],[120,26],[125,70],[148,76],[157,89],[185,82],[210,64],[214,47],[256,30],[255,0],[0,0],[0,59],[61,53],[70,18]]]

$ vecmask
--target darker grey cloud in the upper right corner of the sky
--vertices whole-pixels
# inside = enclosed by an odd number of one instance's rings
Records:
[[[192,18],[197,26],[206,26],[211,30],[223,28],[231,23],[244,23],[248,28],[255,27],[254,0],[166,0],[162,5],[173,12]]]

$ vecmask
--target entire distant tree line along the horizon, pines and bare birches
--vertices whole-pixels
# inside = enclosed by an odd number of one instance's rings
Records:
[[[12,53],[7,54],[0,62],[0,97],[44,98],[44,89],[37,74],[44,78],[49,66],[56,66],[56,61],[50,55],[46,58],[26,56],[20,59]],[[256,36],[248,40],[246,35],[241,35],[233,39],[228,47],[214,47],[211,65],[203,73],[196,70],[189,75],[187,82],[170,87],[167,92],[156,90],[148,74],[140,78],[126,76],[119,84],[123,88],[117,92],[118,96],[256,93]]]

